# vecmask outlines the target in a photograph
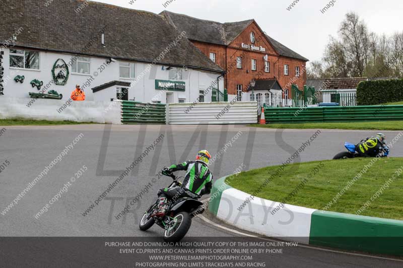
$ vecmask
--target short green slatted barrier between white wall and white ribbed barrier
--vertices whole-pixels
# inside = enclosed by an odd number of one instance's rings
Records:
[[[122,124],[165,124],[166,105],[122,101]]]

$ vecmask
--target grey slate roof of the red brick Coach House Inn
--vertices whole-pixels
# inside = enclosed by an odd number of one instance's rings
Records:
[[[219,23],[214,21],[200,20],[169,11],[163,11],[161,15],[166,17],[168,21],[178,30],[185,31],[188,39],[218,45],[229,45],[240,33],[243,32],[243,30],[245,30],[246,27],[248,27],[254,21],[247,20],[242,22]],[[266,37],[281,56],[308,61],[307,58],[289,49],[270,36],[266,35]]]

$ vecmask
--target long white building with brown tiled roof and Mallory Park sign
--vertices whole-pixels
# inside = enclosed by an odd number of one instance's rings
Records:
[[[86,101],[210,102],[212,88],[224,88],[224,70],[162,16],[96,2],[78,10],[82,4],[9,2],[0,22],[4,96],[54,90],[68,100],[80,84]],[[24,5],[33,10],[20,16]]]

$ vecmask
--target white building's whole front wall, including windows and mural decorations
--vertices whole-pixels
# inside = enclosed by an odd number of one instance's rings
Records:
[[[64,63],[68,65],[69,74],[63,66]],[[119,80],[131,83],[128,89],[129,100],[135,99],[138,102],[155,100],[165,103],[166,92],[156,89],[156,79],[172,81],[170,78],[177,77],[177,81],[184,82],[185,90],[168,88],[167,93],[172,94],[169,95],[171,101],[177,103],[180,99],[182,102],[193,102],[199,97],[200,90],[206,90],[212,83],[216,84],[215,81],[220,75],[216,72],[191,68],[181,68],[177,71],[176,68],[168,68],[167,65],[119,60],[110,62],[110,58],[77,57],[72,54],[17,48],[4,50],[2,64],[4,96],[16,98],[30,98],[30,92],[47,93],[54,90],[62,94],[62,100],[68,100],[76,84],[80,84],[85,91],[86,101],[110,101],[117,97],[116,87],[106,88],[94,94],[91,88]],[[54,76],[60,85],[53,82],[53,68]],[[224,88],[223,80],[219,86],[221,90]],[[205,102],[210,102],[211,91],[204,98]]]

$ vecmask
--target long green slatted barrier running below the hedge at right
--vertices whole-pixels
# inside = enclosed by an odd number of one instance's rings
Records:
[[[266,124],[403,120],[403,105],[265,108]]]

